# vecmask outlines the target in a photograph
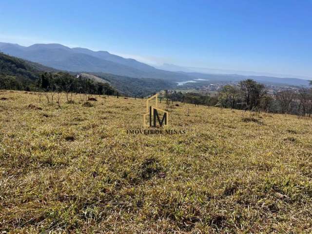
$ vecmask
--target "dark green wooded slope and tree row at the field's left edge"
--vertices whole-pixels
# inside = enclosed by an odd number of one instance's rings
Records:
[[[2,53],[0,53],[0,89],[117,94],[108,83],[75,77]]]

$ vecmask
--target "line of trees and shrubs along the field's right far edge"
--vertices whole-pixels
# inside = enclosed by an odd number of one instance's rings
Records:
[[[298,115],[299,117],[311,117],[312,115],[311,88],[301,87],[299,90],[282,90],[269,94],[265,85],[253,79],[242,80],[238,85],[225,85],[215,96],[165,91],[165,98],[195,105],[245,111],[265,111]]]

